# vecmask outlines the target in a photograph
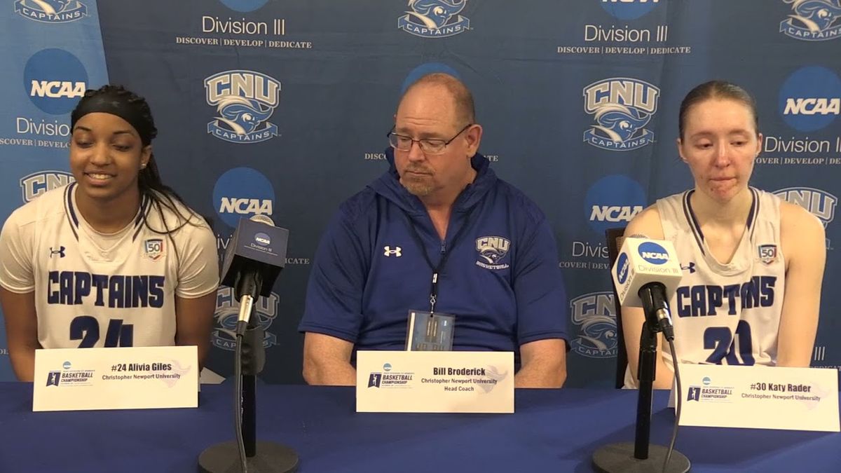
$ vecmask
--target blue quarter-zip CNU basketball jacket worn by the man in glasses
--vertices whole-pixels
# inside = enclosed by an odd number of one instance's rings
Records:
[[[566,339],[558,250],[537,205],[477,154],[476,178],[456,199],[442,241],[421,200],[399,183],[390,148],[387,155],[389,171],[347,199],[322,237],[299,331],[354,350],[405,349],[409,311],[430,310],[432,268],[421,252],[433,264],[451,252],[435,311],[456,316],[454,350],[519,355],[524,343]]]

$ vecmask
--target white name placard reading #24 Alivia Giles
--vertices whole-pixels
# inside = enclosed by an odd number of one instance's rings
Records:
[[[35,350],[33,411],[198,407],[198,349]]]

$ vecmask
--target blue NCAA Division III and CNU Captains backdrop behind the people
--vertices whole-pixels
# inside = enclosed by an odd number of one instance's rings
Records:
[[[6,5],[0,25],[13,47],[0,51],[0,218],[71,178],[68,112],[79,90],[110,81],[144,95],[160,130],[164,180],[214,218],[220,253],[241,216],[267,214],[290,229],[286,269],[258,308],[269,382],[301,382],[295,327],[320,235],[341,200],[383,173],[399,95],[432,71],[473,90],[485,130],[480,151],[553,222],[570,299],[568,385],[612,385],[616,316],[604,230],[690,187],[674,144],[678,107],[712,78],[757,98],[765,142],[753,184],[826,225],[813,364],[841,364],[833,298],[841,282],[833,247],[841,231],[833,222],[841,193],[838,0]],[[424,16],[431,6],[443,13]],[[247,104],[250,120],[230,115],[232,104]],[[608,109],[632,128],[611,125]],[[232,370],[232,340],[218,329],[236,309],[220,289],[209,368],[221,375]],[[5,346],[3,337],[8,355]],[[0,380],[12,378],[0,358]]]

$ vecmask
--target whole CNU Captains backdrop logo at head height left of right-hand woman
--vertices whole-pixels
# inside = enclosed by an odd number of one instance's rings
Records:
[[[595,125],[584,141],[610,151],[631,151],[654,141],[645,125],[657,112],[660,89],[628,77],[611,77],[584,88],[584,111]]]

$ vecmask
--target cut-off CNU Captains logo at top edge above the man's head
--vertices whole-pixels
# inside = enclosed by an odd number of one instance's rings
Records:
[[[445,38],[470,29],[470,20],[458,14],[468,0],[409,0],[397,27],[421,38]]]

